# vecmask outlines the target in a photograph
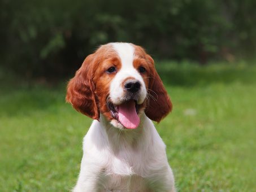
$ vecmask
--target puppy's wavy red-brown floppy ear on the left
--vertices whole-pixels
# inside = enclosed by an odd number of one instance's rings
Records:
[[[66,101],[82,114],[99,120],[97,98],[94,94],[93,79],[94,54],[87,56],[67,86]]]

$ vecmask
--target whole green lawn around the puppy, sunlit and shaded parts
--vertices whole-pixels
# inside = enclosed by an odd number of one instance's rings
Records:
[[[162,62],[158,71],[173,111],[156,126],[177,189],[256,191],[256,67]],[[72,189],[91,120],[64,102],[65,84],[11,84],[0,95],[1,191]]]

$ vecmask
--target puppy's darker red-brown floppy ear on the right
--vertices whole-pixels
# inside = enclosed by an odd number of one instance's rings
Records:
[[[145,109],[145,114],[149,119],[158,123],[172,110],[172,103],[164,89],[163,82],[160,79],[154,67],[154,60],[146,55],[147,62],[151,64],[151,74],[149,80],[149,104]]]

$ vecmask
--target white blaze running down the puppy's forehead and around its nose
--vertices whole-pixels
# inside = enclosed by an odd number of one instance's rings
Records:
[[[146,86],[140,73],[133,67],[134,46],[131,43],[111,43],[111,45],[118,54],[122,64],[110,85],[111,101],[114,104],[121,104],[123,102],[124,88],[122,82],[127,77],[133,77],[141,83],[138,104],[143,103],[146,98]]]

